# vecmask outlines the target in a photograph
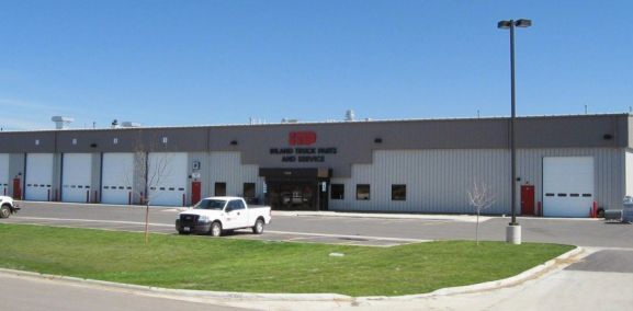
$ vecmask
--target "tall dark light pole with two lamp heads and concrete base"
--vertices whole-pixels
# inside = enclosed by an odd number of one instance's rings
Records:
[[[510,162],[511,162],[511,181],[510,191],[511,195],[511,207],[512,207],[512,221],[508,223],[506,229],[506,241],[512,244],[521,244],[521,226],[517,222],[517,148],[515,146],[515,119],[516,115],[516,93],[515,93],[515,27],[529,27],[532,25],[531,20],[520,19],[520,20],[509,20],[500,21],[497,23],[497,27],[500,30],[510,30],[510,89],[511,89],[511,105],[512,114],[510,116]]]

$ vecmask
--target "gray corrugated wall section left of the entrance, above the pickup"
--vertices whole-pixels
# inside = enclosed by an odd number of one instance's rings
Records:
[[[259,176],[259,166],[241,164],[240,152],[210,152],[208,195],[214,195],[215,183],[226,183],[226,195],[241,196],[244,183],[255,183],[257,197],[263,198],[263,178]]]

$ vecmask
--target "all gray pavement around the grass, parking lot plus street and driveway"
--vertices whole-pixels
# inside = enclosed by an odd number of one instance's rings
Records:
[[[23,203],[22,207],[20,214],[0,220],[0,224],[18,222],[142,231],[145,219],[143,207],[58,203]],[[150,208],[151,231],[176,234],[173,222],[178,212],[177,208]],[[479,239],[505,241],[508,221],[506,217],[483,218]],[[108,288],[59,286],[56,280],[23,279],[0,274],[0,292],[8,293],[0,299],[0,310],[230,310],[224,309],[227,306],[258,310],[632,310],[633,226],[606,223],[598,219],[519,218],[519,222],[524,242],[574,244],[583,246],[585,252],[580,258],[561,263],[561,268],[556,270],[518,285],[415,299],[177,301],[165,297],[113,292]],[[473,240],[474,229],[472,216],[381,217],[273,211],[272,223],[265,228],[264,234],[255,235],[245,231],[227,238],[393,246],[429,240]],[[138,301],[138,304],[125,304],[131,300]]]

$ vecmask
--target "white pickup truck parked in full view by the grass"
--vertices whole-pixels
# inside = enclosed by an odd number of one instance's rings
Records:
[[[252,233],[261,234],[267,223],[270,223],[270,206],[249,207],[241,197],[215,196],[203,198],[180,212],[176,231],[219,237],[228,230],[251,228]]]

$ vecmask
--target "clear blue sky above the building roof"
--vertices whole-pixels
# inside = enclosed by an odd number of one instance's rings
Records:
[[[4,0],[0,126],[507,116],[633,106],[633,1]]]

